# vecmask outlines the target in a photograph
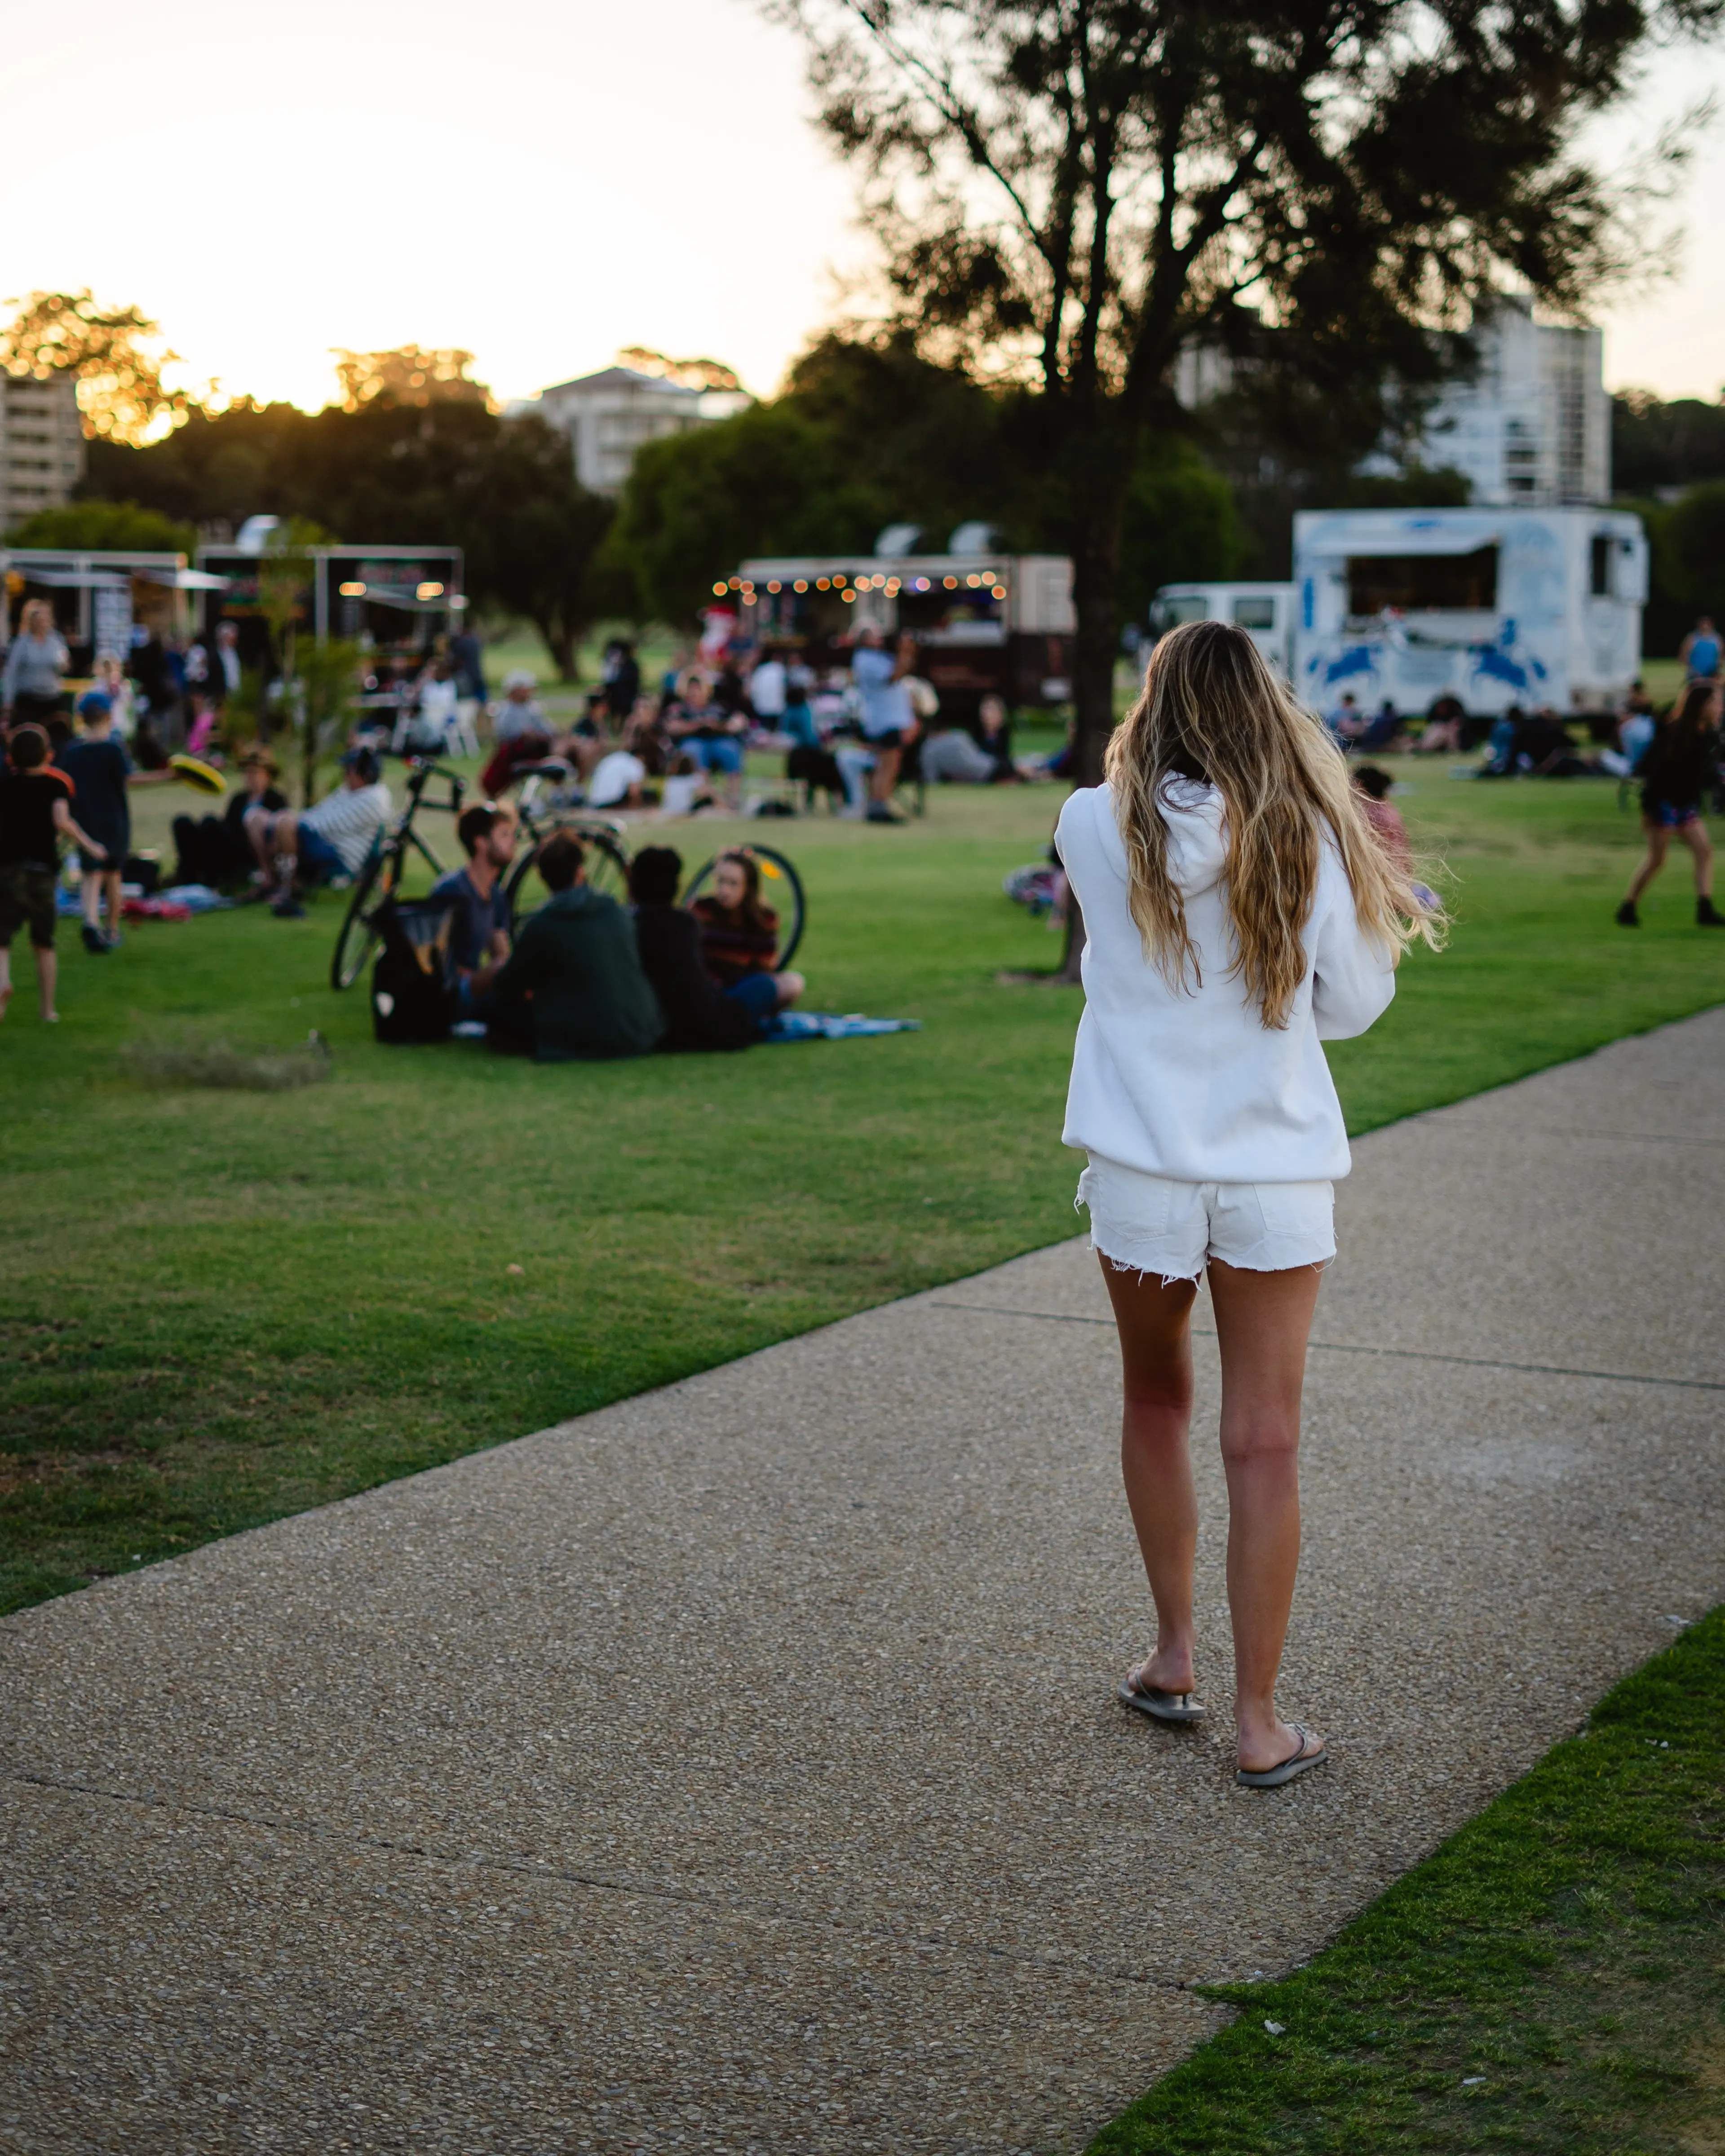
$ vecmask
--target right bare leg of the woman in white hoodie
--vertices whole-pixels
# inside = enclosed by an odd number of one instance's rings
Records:
[[[1317,1266],[1244,1272],[1210,1263],[1223,1354],[1233,1720],[1240,1766],[1253,1770],[1300,1749],[1276,1714],[1276,1671],[1300,1570],[1300,1386],[1320,1281]]]

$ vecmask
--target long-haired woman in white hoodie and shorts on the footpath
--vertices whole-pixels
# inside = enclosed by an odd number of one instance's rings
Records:
[[[1156,1651],[1128,1708],[1195,1723],[1190,1317],[1210,1274],[1223,1360],[1238,1779],[1279,1787],[1324,1740],[1276,1710],[1300,1563],[1300,1382],[1335,1257],[1348,1136],[1322,1041],[1389,1007],[1419,934],[1408,867],[1371,830],[1324,722],[1223,621],[1171,630],[1054,834],[1085,912],[1085,1015],[1063,1138],[1115,1309],[1121,1468]],[[1430,893],[1427,893],[1430,897]]]

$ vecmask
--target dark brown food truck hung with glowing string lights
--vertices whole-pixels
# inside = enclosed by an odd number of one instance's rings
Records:
[[[1072,696],[1072,563],[1065,554],[798,554],[746,561],[714,584],[737,634],[815,668],[850,666],[858,627],[916,640],[916,673],[944,718],[983,696],[1059,705]]]

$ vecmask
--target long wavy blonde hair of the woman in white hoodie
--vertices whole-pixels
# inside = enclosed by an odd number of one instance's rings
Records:
[[[1223,796],[1229,966],[1281,1028],[1305,979],[1305,925],[1324,839],[1335,841],[1354,912],[1391,962],[1423,936],[1445,940],[1443,908],[1365,819],[1322,720],[1264,662],[1244,630],[1188,621],[1149,658],[1145,686],[1108,742],[1108,787],[1128,860],[1128,906],[1145,957],[1171,987],[1201,985],[1186,903],[1169,875],[1164,789],[1208,780]]]

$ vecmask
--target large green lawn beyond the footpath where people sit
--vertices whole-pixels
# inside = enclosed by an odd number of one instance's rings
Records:
[[[1678,869],[1613,927],[1637,824],[1598,783],[1410,772],[1453,949],[1335,1052],[1369,1130],[1725,996]],[[166,824],[183,802],[140,796]],[[539,1069],[377,1048],[328,990],[341,906],[63,929],[0,1028],[0,1606],[168,1557],[929,1287],[1078,1229],[1059,1123],[1076,990],[1003,987],[1057,940],[1000,895],[1050,787],[925,821],[768,828],[806,877],[811,1003],[921,1033]],[[446,834],[446,824],[442,826]],[[692,860],[733,826],[673,826]],[[446,837],[440,845],[448,847]],[[295,1093],[149,1089],[136,1044],[287,1048]],[[513,1268],[520,1268],[515,1272]]]

